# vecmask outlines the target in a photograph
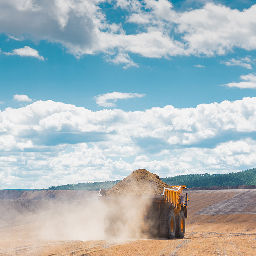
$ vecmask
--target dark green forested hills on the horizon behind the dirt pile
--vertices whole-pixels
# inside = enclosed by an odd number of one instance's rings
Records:
[[[242,172],[227,174],[188,174],[178,175],[170,178],[161,178],[169,185],[186,185],[192,187],[212,187],[212,186],[236,186],[236,185],[256,185],[256,168]],[[120,180],[87,182],[78,184],[67,184],[61,186],[52,186],[48,190],[100,190],[109,189]]]

